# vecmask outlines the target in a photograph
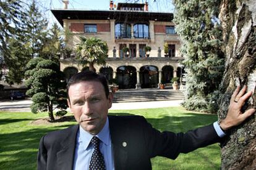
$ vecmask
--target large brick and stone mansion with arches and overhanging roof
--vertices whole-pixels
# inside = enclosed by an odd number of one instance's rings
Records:
[[[173,14],[148,11],[148,4],[119,3],[109,10],[51,10],[64,29],[72,32],[68,46],[74,49],[80,36],[95,36],[108,44],[106,65],[95,65],[96,72],[108,79],[117,78],[120,89],[158,87],[160,82],[169,83],[181,76],[179,61],[181,42],[174,30]],[[164,54],[164,44],[168,53]],[[151,51],[146,55],[145,47]],[[122,49],[129,48],[128,55]],[[77,65],[74,55],[61,57],[61,70],[67,79],[78,71],[86,70]]]

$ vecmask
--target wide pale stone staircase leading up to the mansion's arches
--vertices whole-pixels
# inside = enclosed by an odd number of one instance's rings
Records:
[[[184,94],[173,89],[122,89],[114,93],[114,103],[183,100]]]

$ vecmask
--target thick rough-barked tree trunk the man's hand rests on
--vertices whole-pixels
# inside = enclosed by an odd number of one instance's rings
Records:
[[[219,120],[226,116],[236,86],[247,85],[254,91],[256,81],[256,8],[255,1],[222,1],[223,51],[226,65],[220,86]],[[243,110],[256,106],[254,94]],[[244,112],[244,111],[243,111]],[[256,118],[251,116],[230,131],[221,149],[221,169],[256,168]]]

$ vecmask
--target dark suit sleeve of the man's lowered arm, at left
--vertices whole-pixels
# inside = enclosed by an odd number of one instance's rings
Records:
[[[45,136],[40,140],[38,155],[37,155],[37,169],[43,170],[46,169],[47,164],[47,150],[44,145]]]

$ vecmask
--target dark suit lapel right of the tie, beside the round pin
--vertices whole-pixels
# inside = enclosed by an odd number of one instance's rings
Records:
[[[127,164],[126,139],[122,137],[125,132],[122,131],[124,124],[119,124],[115,116],[108,116],[109,131],[114,152],[114,168],[125,169]]]

